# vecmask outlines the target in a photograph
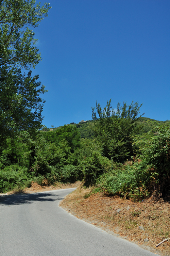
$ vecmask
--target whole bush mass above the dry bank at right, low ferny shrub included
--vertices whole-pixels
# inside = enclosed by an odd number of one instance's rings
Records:
[[[97,183],[106,193],[142,200],[170,196],[170,128],[157,127],[150,134],[137,137],[137,162],[117,164],[102,174]]]

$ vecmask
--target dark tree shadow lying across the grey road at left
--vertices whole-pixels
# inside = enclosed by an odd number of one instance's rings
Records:
[[[60,195],[54,195],[51,193],[36,193],[36,194],[24,194],[24,195],[3,195],[0,196],[0,206],[2,205],[20,205],[20,204],[33,204],[37,201],[61,201],[63,197]]]

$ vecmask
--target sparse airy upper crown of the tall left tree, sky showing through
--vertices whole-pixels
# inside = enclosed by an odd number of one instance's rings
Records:
[[[35,67],[41,60],[37,39],[31,29],[48,16],[49,3],[35,5],[35,0],[0,1],[0,67]]]

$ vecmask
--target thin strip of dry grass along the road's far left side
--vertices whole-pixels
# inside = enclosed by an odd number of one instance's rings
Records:
[[[76,181],[75,183],[67,183],[62,184],[57,182],[55,186],[40,186],[36,182],[31,183],[30,188],[25,189],[14,189],[12,191],[7,192],[6,194],[0,194],[0,195],[10,195],[10,194],[17,194],[17,193],[36,193],[36,192],[43,192],[43,191],[50,191],[50,190],[56,190],[56,189],[69,189],[69,188],[77,188],[81,184],[80,181]]]

